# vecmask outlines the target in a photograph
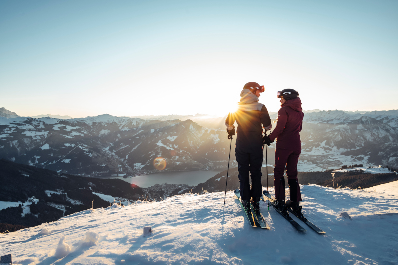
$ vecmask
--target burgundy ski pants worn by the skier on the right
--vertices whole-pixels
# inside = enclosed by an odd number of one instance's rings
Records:
[[[301,191],[298,185],[298,171],[297,163],[300,157],[301,150],[291,151],[286,149],[276,148],[275,151],[275,168],[274,184],[275,184],[275,197],[277,200],[285,200],[285,182],[284,182],[284,169],[286,168],[287,182],[290,188],[290,200],[293,202],[300,202]]]

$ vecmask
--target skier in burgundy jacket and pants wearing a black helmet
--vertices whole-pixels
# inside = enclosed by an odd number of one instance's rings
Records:
[[[288,214],[287,207],[290,207],[300,214],[302,207],[299,203],[302,199],[298,185],[297,163],[301,154],[300,131],[304,113],[298,92],[294,89],[278,91],[277,97],[280,98],[281,103],[277,125],[269,136],[264,136],[263,143],[269,146],[276,139],[275,168],[273,169],[276,206],[284,213]],[[286,203],[283,176],[285,169],[290,188],[290,200]]]

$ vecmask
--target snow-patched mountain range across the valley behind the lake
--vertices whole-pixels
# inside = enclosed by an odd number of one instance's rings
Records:
[[[166,162],[166,171],[226,168],[235,138],[227,139],[223,117],[142,118],[0,117],[0,158],[83,176],[148,174],[159,171],[159,161]],[[306,112],[299,171],[358,163],[396,168],[397,128],[398,110]],[[273,164],[274,146],[267,147],[268,164]],[[230,165],[237,165],[233,151]]]

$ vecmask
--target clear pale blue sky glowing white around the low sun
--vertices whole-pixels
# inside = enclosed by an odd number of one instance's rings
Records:
[[[0,1],[0,107],[20,116],[398,109],[398,1]]]

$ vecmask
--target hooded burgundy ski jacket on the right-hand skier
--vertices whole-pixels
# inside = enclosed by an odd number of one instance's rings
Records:
[[[286,150],[301,150],[300,132],[304,113],[301,108],[301,99],[287,100],[278,111],[278,123],[275,130],[269,135],[271,141],[276,139],[276,148]]]

